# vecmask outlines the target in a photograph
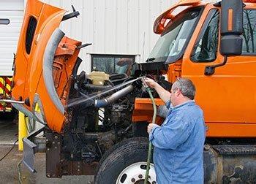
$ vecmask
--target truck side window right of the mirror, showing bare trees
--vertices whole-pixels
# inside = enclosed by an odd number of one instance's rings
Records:
[[[256,10],[244,10],[243,54],[256,53]]]

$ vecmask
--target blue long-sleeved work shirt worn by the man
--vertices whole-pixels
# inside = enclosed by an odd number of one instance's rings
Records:
[[[203,111],[195,101],[170,107],[162,126],[154,126],[149,140],[154,145],[157,183],[203,183],[203,144],[206,130]]]

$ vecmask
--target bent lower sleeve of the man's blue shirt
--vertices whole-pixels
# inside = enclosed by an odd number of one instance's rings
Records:
[[[154,126],[149,134],[149,140],[154,147],[165,150],[176,149],[188,137],[189,127],[181,117],[169,118],[162,126]]]

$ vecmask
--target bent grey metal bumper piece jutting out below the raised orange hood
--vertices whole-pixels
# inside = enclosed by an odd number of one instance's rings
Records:
[[[36,131],[32,131],[28,137],[23,138],[23,161],[22,163],[27,166],[31,172],[37,172],[34,169],[34,154],[38,152],[38,145],[36,145],[32,139],[37,136],[40,132],[45,129],[45,126],[42,126]]]

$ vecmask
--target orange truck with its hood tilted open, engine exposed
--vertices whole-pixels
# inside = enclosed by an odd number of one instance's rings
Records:
[[[256,182],[255,3],[179,1],[155,20],[159,40],[146,62],[132,65],[131,76],[78,74],[78,53],[86,45],[58,28],[78,15],[65,12],[35,0],[26,5],[12,105],[42,128],[23,139],[23,164],[34,172],[34,153],[45,150],[47,177],[143,182],[152,105],[140,77],[166,90],[187,77],[205,115],[205,183]],[[163,104],[156,92],[154,98]],[[148,183],[156,183],[153,163],[149,176]]]

